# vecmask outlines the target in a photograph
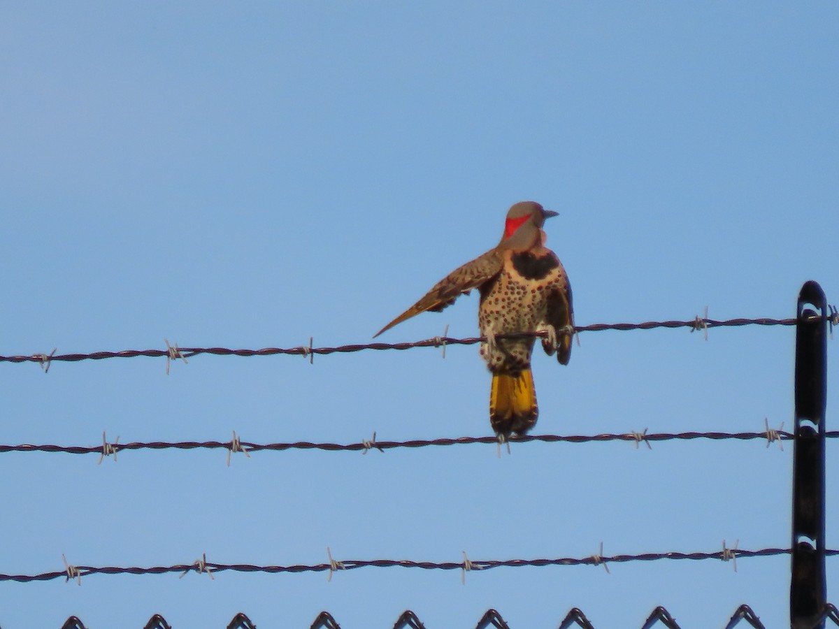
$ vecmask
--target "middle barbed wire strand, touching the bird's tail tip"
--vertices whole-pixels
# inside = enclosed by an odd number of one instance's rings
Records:
[[[827,439],[839,438],[839,430],[827,431],[825,434]],[[644,432],[629,432],[622,434],[529,434],[521,437],[509,437],[506,439],[508,443],[569,443],[569,444],[586,444],[592,442],[605,441],[628,441],[638,444],[647,444],[652,447],[652,442],[657,441],[671,441],[671,440],[693,440],[693,439],[710,439],[714,441],[734,439],[739,441],[747,441],[752,439],[765,439],[766,445],[769,446],[773,441],[789,441],[795,439],[795,435],[784,430],[767,429],[763,432],[742,432],[742,433],[724,433],[724,432],[684,432],[684,433],[649,433],[646,429]],[[242,441],[235,431],[233,438],[230,441],[133,441],[125,444],[119,443],[119,438],[114,443],[108,443],[106,435],[102,434],[102,444],[97,445],[57,445],[57,444],[0,444],[0,454],[7,452],[47,452],[56,453],[63,452],[70,455],[100,455],[100,462],[102,458],[116,455],[124,450],[227,450],[228,451],[228,465],[229,455],[235,452],[243,452],[245,455],[250,455],[251,452],[259,452],[262,450],[268,451],[283,451],[283,450],[323,450],[326,452],[341,452],[341,451],[362,451],[367,453],[369,450],[394,450],[399,448],[424,448],[428,446],[447,446],[447,445],[468,445],[468,444],[496,444],[498,445],[498,437],[452,437],[440,439],[409,439],[405,441],[378,441],[376,434],[373,433],[373,439],[364,439],[357,443],[351,444],[336,444],[336,443],[314,443],[311,441],[295,441],[293,443],[274,443],[274,444],[258,444],[251,441]],[[781,446],[783,449],[783,446]]]

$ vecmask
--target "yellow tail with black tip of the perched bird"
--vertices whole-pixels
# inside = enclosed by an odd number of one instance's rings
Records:
[[[538,417],[533,372],[524,369],[518,374],[492,374],[489,421],[496,433],[505,437],[510,433],[524,434],[534,427]]]

